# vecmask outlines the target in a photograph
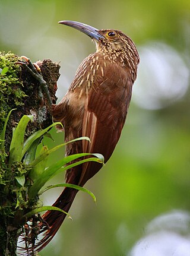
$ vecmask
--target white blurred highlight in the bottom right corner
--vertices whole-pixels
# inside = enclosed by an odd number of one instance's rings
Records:
[[[189,256],[190,216],[176,210],[156,217],[145,228],[145,236],[129,256]]]

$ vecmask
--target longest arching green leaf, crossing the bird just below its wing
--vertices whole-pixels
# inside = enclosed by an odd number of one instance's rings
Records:
[[[69,163],[72,160],[78,159],[83,156],[89,156],[89,155],[93,155],[93,154],[81,153],[81,154],[74,154],[71,156],[67,156],[67,157],[64,157],[64,159],[61,159],[58,162],[54,163],[52,166],[48,167],[45,170],[45,172],[43,172],[42,175],[40,175],[36,179],[36,181],[34,181],[33,185],[30,187],[29,198],[35,197],[38,194],[38,192],[40,191],[40,189],[46,184],[46,182],[49,181],[50,178],[52,178],[54,175],[56,175],[59,172],[70,169],[77,165],[81,165],[82,163],[85,163],[85,162],[92,161],[92,162],[102,163],[101,159],[98,159],[97,157],[91,157],[91,158],[83,159],[81,161],[78,161],[78,162],[72,163],[71,165],[63,167],[64,165],[66,165],[66,163]],[[102,156],[102,158],[103,158],[103,156]]]

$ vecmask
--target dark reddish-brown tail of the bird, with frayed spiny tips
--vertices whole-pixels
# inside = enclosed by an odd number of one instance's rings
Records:
[[[53,206],[61,208],[68,213],[77,192],[77,189],[65,188]],[[64,222],[65,217],[65,213],[56,210],[46,211],[46,213],[43,214],[43,223],[40,225],[40,233],[43,233],[43,238],[34,246],[35,251],[39,252],[49,244],[62,222]]]

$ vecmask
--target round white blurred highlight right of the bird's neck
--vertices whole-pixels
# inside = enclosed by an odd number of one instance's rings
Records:
[[[134,102],[144,109],[162,109],[182,99],[189,86],[189,69],[181,55],[160,42],[138,49],[140,65]]]

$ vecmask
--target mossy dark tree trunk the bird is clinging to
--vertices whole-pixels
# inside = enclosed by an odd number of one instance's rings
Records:
[[[39,82],[22,65],[16,64],[19,58],[12,53],[0,52],[0,134],[5,118],[11,109],[5,135],[5,150],[0,150],[0,256],[17,255],[17,240],[24,220],[20,219],[17,198],[14,192],[15,176],[21,171],[22,165],[17,163],[8,167],[9,146],[12,128],[17,126],[23,115],[33,115],[33,122],[27,125],[26,138],[39,129],[52,124],[50,106],[45,94],[39,96]],[[56,103],[56,82],[59,78],[59,65],[46,59],[38,62],[44,80]],[[1,141],[0,141],[1,143]]]

